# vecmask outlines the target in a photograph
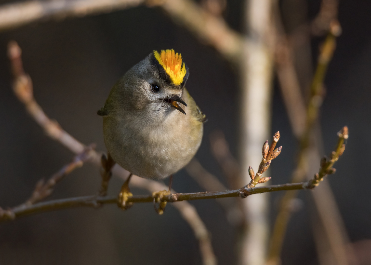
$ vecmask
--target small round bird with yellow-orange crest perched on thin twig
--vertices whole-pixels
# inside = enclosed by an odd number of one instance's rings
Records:
[[[170,176],[169,190],[156,193],[170,194],[173,174],[200,147],[206,115],[185,88],[188,77],[180,53],[154,50],[116,82],[99,109],[108,159],[130,172],[118,196],[122,209],[130,206],[132,174],[153,180]]]

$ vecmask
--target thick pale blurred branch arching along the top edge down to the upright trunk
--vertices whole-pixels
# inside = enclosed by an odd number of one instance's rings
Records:
[[[41,19],[86,16],[143,3],[161,7],[204,43],[214,46],[229,60],[240,61],[244,38],[230,29],[223,17],[207,12],[193,0],[34,0],[6,4],[0,6],[0,31]]]

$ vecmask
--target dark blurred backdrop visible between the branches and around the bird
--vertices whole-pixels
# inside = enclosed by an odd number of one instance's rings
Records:
[[[5,3],[2,1],[0,3]],[[320,1],[308,1],[314,17]],[[243,2],[229,1],[226,20],[243,32]],[[326,76],[326,98],[321,126],[325,151],[336,142],[336,132],[349,127],[347,150],[330,177],[342,217],[352,241],[371,238],[371,3],[340,1],[343,34]],[[112,85],[152,50],[173,48],[190,68],[187,88],[209,121],[196,157],[224,183],[210,153],[209,134],[220,129],[237,157],[239,83],[236,69],[211,47],[172,22],[160,9],[129,10],[32,23],[0,33],[0,206],[22,203],[35,183],[48,177],[73,155],[50,140],[17,101],[10,86],[6,57],[9,40],[23,49],[24,68],[30,74],[35,98],[45,112],[85,144],[105,151],[102,107]],[[321,38],[312,42],[313,62]],[[276,81],[275,81],[276,83]],[[279,89],[273,95],[272,133],[279,130],[283,151],[270,167],[271,184],[286,183],[295,165],[297,143],[290,130]],[[257,161],[257,164],[259,161]],[[113,179],[110,193],[122,181]],[[99,172],[86,165],[58,184],[51,198],[95,194]],[[201,188],[184,170],[175,175],[178,192]],[[134,189],[133,193],[139,193]],[[300,196],[305,200],[308,191]],[[259,196],[259,195],[254,195]],[[272,220],[277,199],[271,194]],[[236,262],[236,234],[214,200],[191,202],[212,235],[219,264]],[[0,225],[0,264],[200,264],[193,231],[177,210],[168,206],[158,216],[151,204],[128,211],[115,205],[103,209],[69,209],[28,216]],[[290,221],[283,248],[283,264],[317,264],[307,207]]]

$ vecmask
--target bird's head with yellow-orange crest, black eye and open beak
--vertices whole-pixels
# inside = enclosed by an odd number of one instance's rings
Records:
[[[185,114],[180,104],[187,106],[182,96],[188,76],[188,67],[180,53],[154,50],[125,74],[125,93],[131,94],[130,104],[138,111],[169,112],[177,109]]]

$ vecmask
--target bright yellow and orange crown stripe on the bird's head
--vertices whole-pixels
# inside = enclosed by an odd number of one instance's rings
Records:
[[[185,63],[182,64],[181,54],[175,53],[173,49],[161,50],[161,55],[157,50],[154,50],[153,54],[165,72],[170,76],[173,84],[180,85],[183,82],[185,73],[187,73]]]

